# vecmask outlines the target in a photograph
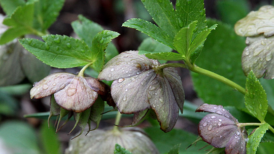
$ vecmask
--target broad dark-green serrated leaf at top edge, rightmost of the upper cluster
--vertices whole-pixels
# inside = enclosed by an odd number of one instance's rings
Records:
[[[194,36],[207,27],[203,0],[192,0],[187,2],[185,0],[177,0],[176,16],[181,27],[185,27],[195,20],[198,21]]]

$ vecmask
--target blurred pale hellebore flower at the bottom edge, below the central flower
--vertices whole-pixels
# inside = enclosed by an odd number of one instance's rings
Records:
[[[113,153],[116,143],[132,153],[159,153],[156,146],[142,129],[123,128],[120,131],[97,129],[86,136],[75,138],[70,141],[65,154]]]

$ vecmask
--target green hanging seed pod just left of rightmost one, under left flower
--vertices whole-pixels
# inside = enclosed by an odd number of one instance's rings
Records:
[[[77,136],[75,136],[74,138],[80,136],[84,132],[84,129],[87,126],[87,123],[89,121],[90,110],[91,109],[89,108],[83,112],[74,113],[74,119],[76,122],[75,122],[75,125],[74,125],[73,129],[71,130],[71,132],[76,128],[77,125],[81,128],[80,133]],[[71,134],[71,132],[68,134]]]

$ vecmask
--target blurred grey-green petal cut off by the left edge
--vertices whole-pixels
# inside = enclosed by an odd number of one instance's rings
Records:
[[[0,46],[0,86],[14,85],[25,78],[19,62],[21,51],[18,43]]]

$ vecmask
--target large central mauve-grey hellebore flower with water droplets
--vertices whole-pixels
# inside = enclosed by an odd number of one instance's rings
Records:
[[[132,126],[144,120],[152,109],[161,130],[168,132],[177,122],[179,109],[183,112],[184,90],[175,68],[160,68],[157,60],[138,55],[138,51],[112,58],[98,79],[114,80],[112,98],[121,113],[134,113]]]

